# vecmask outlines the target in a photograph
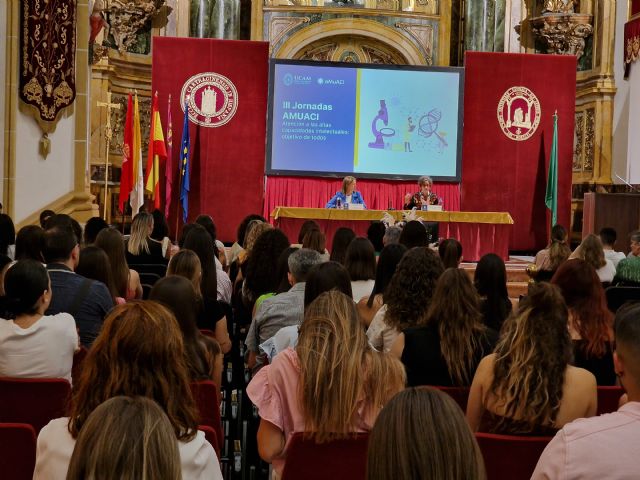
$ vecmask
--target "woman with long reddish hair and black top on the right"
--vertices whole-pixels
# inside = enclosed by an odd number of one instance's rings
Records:
[[[569,309],[573,364],[593,373],[598,385],[615,385],[613,314],[596,271],[585,260],[568,260],[551,283],[560,288]]]

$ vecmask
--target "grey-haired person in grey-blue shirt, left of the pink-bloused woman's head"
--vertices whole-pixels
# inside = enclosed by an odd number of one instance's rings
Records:
[[[264,300],[247,332],[245,343],[249,350],[250,368],[262,366],[263,358],[258,358],[261,343],[273,337],[281,328],[302,323],[305,282],[311,268],[319,263],[320,254],[315,250],[301,248],[289,256],[291,289]]]

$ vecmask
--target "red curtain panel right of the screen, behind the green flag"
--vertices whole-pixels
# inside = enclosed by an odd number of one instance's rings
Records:
[[[524,141],[508,138],[498,104],[511,87],[538,98],[540,124]],[[461,209],[509,212],[511,250],[535,250],[547,242],[550,220],[545,188],[553,113],[558,111],[558,223],[569,227],[575,114],[576,59],[560,55],[467,52]]]

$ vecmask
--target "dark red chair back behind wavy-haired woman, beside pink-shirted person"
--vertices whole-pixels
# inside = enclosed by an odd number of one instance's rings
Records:
[[[552,437],[476,433],[488,480],[529,480]]]

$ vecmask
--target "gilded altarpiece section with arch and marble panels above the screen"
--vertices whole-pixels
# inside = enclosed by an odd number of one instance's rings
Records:
[[[449,65],[448,2],[254,0],[251,21],[275,58]]]

